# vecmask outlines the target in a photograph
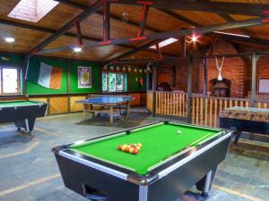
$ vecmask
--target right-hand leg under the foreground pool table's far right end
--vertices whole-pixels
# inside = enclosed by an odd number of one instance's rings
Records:
[[[216,172],[216,169],[208,172],[204,176],[204,178],[202,180],[199,180],[196,183],[196,188],[198,190],[202,191],[202,196],[203,197],[207,197],[210,189],[212,188],[212,184],[213,184],[213,179],[214,179],[214,176],[215,176],[215,172]]]

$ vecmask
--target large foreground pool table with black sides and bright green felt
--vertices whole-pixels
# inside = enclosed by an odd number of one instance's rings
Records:
[[[174,201],[196,185],[207,195],[231,132],[155,122],[54,147],[65,187],[91,200]],[[118,145],[141,143],[137,155]]]

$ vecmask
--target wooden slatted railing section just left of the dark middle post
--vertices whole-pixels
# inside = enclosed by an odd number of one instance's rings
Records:
[[[156,114],[187,116],[187,94],[158,91],[156,96]]]

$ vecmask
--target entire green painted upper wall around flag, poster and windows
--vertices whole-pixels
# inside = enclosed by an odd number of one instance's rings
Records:
[[[60,89],[50,89],[39,86],[34,80],[39,77],[40,63],[44,62],[52,66],[63,68],[63,77]],[[21,67],[22,56],[17,54],[0,54],[0,65]],[[67,93],[67,65],[68,62],[64,58],[53,57],[39,57],[34,56],[30,58],[28,66],[28,76],[26,81],[28,95],[48,95],[48,94],[66,94]],[[91,88],[78,88],[77,67],[85,66],[91,67]],[[100,71],[101,66],[99,63],[92,63],[86,61],[70,60],[69,62],[69,75],[70,75],[70,93],[71,94],[84,94],[84,93],[100,93],[101,80]],[[22,73],[21,73],[22,74]],[[143,86],[139,86],[136,78],[143,78]],[[22,75],[21,75],[22,80]],[[134,71],[127,72],[127,88],[129,92],[145,91],[146,90],[146,75],[145,73],[135,73]],[[21,85],[22,86],[22,85]]]

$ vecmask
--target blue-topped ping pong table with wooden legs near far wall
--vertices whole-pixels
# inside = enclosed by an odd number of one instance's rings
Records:
[[[109,113],[110,123],[113,123],[114,113],[119,114],[119,118],[124,119],[129,113],[132,96],[91,96],[86,100],[76,101],[77,104],[83,105],[83,116],[91,113],[91,117],[100,113]]]

